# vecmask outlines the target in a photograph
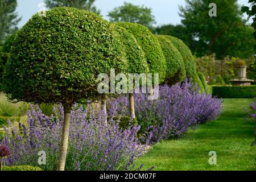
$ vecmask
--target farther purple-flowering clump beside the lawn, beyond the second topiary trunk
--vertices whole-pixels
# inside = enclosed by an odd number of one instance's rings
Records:
[[[189,127],[216,119],[222,100],[200,93],[187,80],[174,86],[160,86],[158,100],[148,100],[146,94],[135,94],[135,114],[141,131],[149,130],[151,142],[180,137]],[[116,110],[117,113],[113,113]],[[109,102],[109,115],[129,115],[126,97]]]

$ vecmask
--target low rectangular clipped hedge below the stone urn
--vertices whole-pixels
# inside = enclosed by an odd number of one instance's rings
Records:
[[[251,86],[213,86],[212,96],[218,98],[254,98],[256,85]]]

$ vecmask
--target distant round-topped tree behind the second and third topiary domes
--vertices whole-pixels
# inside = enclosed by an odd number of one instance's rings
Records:
[[[108,16],[110,17],[110,22],[139,23],[151,30],[156,23],[151,8],[136,6],[127,2],[123,6],[115,7],[114,10],[109,12]]]

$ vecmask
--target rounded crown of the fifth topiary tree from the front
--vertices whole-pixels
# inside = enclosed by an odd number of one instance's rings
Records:
[[[188,78],[194,78],[196,74],[196,64],[190,49],[182,42],[173,36],[166,35],[166,38],[171,40],[174,46],[180,51],[185,64],[185,71]]]

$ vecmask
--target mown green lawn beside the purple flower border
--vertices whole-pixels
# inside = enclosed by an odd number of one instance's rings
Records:
[[[226,99],[219,119],[189,130],[180,140],[156,144],[136,164],[155,170],[255,170],[255,123],[246,121],[246,111],[254,100]],[[210,165],[209,151],[217,152],[217,165]]]

